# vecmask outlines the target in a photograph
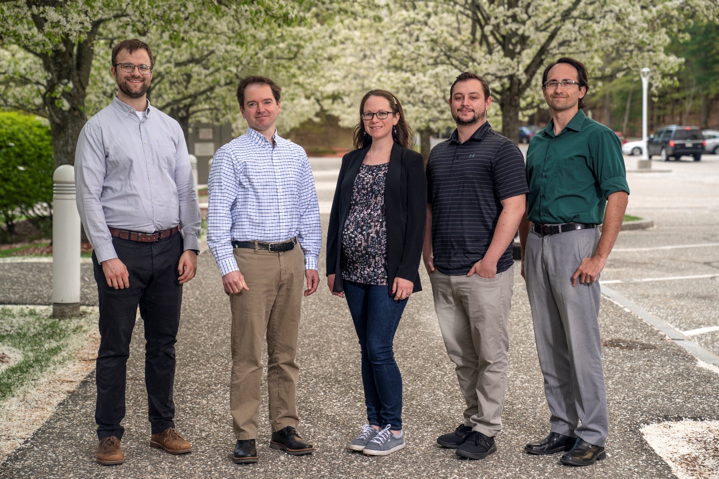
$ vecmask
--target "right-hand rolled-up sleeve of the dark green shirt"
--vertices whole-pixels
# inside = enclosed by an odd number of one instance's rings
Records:
[[[604,199],[617,191],[629,193],[622,145],[614,132],[603,131],[595,137],[592,166]]]

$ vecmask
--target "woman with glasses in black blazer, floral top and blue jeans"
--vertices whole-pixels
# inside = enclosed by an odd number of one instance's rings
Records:
[[[405,446],[402,377],[393,340],[407,298],[421,291],[426,221],[422,155],[398,99],[362,98],[356,150],[342,158],[327,234],[327,286],[347,298],[362,351],[367,424],[349,449],[388,455]]]

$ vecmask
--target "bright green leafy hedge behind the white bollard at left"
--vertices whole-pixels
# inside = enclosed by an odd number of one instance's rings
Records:
[[[32,115],[0,112],[0,219],[8,233],[22,216],[37,221],[52,204],[50,127]]]

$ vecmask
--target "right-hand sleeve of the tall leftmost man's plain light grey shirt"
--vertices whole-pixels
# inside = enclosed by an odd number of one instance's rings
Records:
[[[178,125],[179,128],[179,125]],[[200,235],[200,206],[195,191],[195,178],[192,175],[190,155],[187,152],[185,135],[178,134],[179,142],[175,150],[175,185],[178,188],[178,202],[180,204],[180,234],[183,237],[185,250],[199,251],[198,237]]]

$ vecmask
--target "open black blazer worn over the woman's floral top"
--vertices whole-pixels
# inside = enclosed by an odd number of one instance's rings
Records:
[[[342,229],[349,215],[354,178],[370,147],[354,150],[342,158],[327,232],[327,275],[335,274],[334,291],[344,291],[340,254]],[[419,261],[427,219],[427,181],[422,155],[396,142],[390,153],[385,179],[385,222],[387,224],[387,287],[392,296],[395,277],[414,282],[413,292],[422,291]]]

